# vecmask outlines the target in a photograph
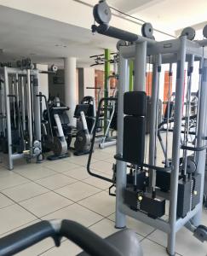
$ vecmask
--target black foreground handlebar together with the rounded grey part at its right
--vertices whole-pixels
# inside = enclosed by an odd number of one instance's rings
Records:
[[[63,236],[83,249],[78,256],[143,256],[137,236],[131,230],[120,230],[102,239],[83,225],[66,219],[41,221],[4,236],[0,239],[0,256],[20,253],[48,237],[53,238],[55,246],[59,247]]]

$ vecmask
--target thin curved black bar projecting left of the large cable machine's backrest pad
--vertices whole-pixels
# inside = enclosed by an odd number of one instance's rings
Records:
[[[101,178],[102,180],[105,180],[105,181],[107,181],[109,183],[114,183],[114,181],[111,178],[104,177],[104,176],[101,176],[101,175],[96,174],[94,172],[91,172],[91,170],[90,170],[90,163],[91,163],[91,159],[92,159],[92,154],[94,152],[95,134],[96,134],[96,130],[97,130],[99,119],[100,119],[101,104],[102,104],[102,102],[109,102],[109,101],[114,101],[115,102],[117,100],[118,99],[114,98],[114,97],[106,97],[106,98],[101,98],[101,100],[99,102],[98,111],[97,111],[97,114],[96,114],[96,117],[95,117],[95,128],[94,128],[93,136],[92,136],[92,139],[91,139],[91,144],[90,144],[90,148],[89,148],[89,158],[88,158],[88,162],[87,162],[87,171],[89,172],[89,175]]]

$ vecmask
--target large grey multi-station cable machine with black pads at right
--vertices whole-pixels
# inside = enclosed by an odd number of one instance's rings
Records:
[[[92,26],[92,32],[122,40],[118,43],[118,140],[112,179],[91,172],[90,155],[87,170],[89,174],[116,186],[117,228],[124,228],[126,216],[130,216],[162,230],[168,236],[167,253],[174,256],[176,232],[182,227],[191,230],[198,240],[207,241],[207,228],[201,224],[207,148],[207,55],[204,54],[207,40],[193,41],[195,31],[191,27],[184,29],[180,38],[157,42],[150,23],[142,26],[142,36],[110,26],[112,14],[106,1],[95,5],[94,18],[97,24]],[[207,26],[203,33],[207,38]],[[135,60],[133,91],[129,91],[130,60]],[[195,61],[199,63],[198,70],[193,68]],[[187,95],[184,104],[186,62]],[[172,146],[168,142],[167,148],[165,145],[165,160],[160,166],[157,164],[158,96],[163,64],[169,65],[170,72],[172,65],[176,66],[176,84],[173,120],[169,111],[164,120],[166,132],[173,123]],[[146,135],[147,65],[152,67],[149,145]],[[194,121],[191,116],[191,95],[195,72],[199,75],[199,81]],[[192,121],[194,131],[191,131]],[[189,135],[193,132],[195,136],[192,142]],[[170,155],[166,154],[168,148],[172,151]],[[161,187],[164,183],[169,184],[167,189]],[[169,209],[165,207],[166,201],[170,202]],[[163,218],[165,214],[169,218]]]

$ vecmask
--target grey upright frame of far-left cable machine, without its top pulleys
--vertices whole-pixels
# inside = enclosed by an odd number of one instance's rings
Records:
[[[12,170],[14,160],[42,160],[39,71],[3,67],[0,73],[0,144]]]

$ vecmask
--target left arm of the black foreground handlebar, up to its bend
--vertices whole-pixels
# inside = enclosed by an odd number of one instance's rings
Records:
[[[47,237],[55,238],[55,230],[48,221],[41,221],[23,230],[14,232],[0,239],[0,256],[10,256],[20,253],[27,247],[31,247],[38,241]],[[56,237],[57,238],[57,237]],[[56,239],[55,238],[55,239]]]

